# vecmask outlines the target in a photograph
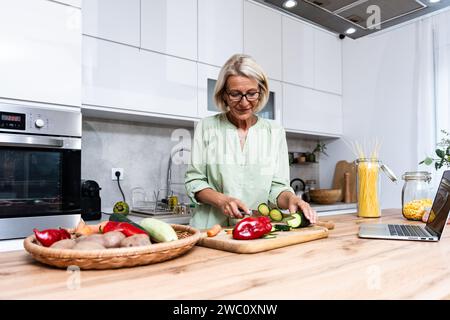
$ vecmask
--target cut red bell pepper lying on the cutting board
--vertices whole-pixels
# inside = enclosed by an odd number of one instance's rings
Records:
[[[269,217],[248,217],[242,219],[233,229],[233,239],[251,240],[261,238],[272,231]]]

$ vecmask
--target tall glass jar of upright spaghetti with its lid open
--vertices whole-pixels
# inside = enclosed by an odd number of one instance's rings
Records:
[[[380,169],[392,180],[397,181],[395,174],[376,158],[356,160],[356,193],[358,200],[358,216],[378,218],[381,216]]]

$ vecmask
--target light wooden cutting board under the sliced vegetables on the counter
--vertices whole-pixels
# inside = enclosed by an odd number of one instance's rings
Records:
[[[204,232],[197,245],[234,253],[257,253],[326,238],[328,229],[311,226],[287,232],[278,231],[275,234],[276,238],[272,239],[234,240],[232,235],[227,234],[225,230],[220,231],[215,237],[208,237]]]

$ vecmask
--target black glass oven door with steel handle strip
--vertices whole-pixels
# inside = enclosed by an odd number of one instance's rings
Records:
[[[0,219],[80,214],[81,138],[0,133]]]

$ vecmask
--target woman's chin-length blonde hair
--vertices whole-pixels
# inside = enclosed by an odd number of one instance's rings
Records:
[[[254,79],[259,86],[259,99],[253,110],[254,113],[261,111],[269,100],[269,81],[263,69],[246,54],[235,54],[223,65],[214,88],[214,102],[220,111],[228,111],[227,103],[224,99],[227,80],[230,76],[243,76]]]

